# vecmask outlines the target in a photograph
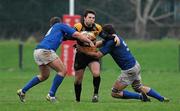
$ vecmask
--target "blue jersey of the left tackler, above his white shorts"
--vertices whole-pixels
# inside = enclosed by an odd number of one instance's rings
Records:
[[[43,40],[37,45],[36,49],[48,49],[56,51],[59,45],[62,43],[64,35],[67,35],[67,37],[72,37],[74,32],[74,28],[71,28],[63,23],[56,23],[49,29]]]

